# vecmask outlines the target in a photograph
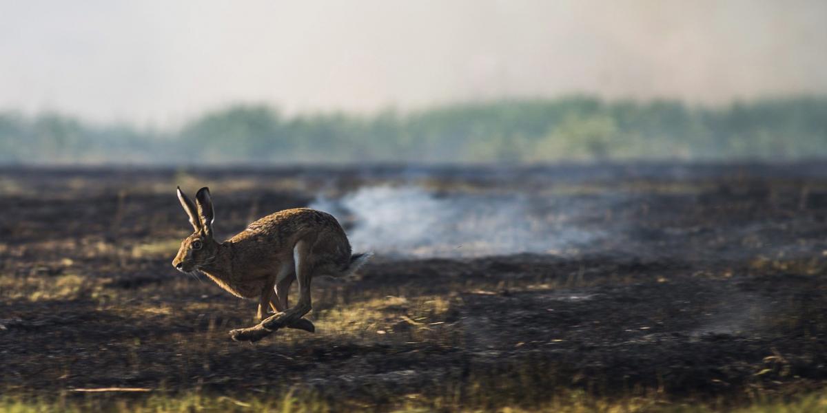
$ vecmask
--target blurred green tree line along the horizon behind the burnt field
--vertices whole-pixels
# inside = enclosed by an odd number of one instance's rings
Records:
[[[827,157],[827,97],[691,107],[594,97],[285,117],[239,105],[178,131],[0,112],[2,164],[535,163]]]

